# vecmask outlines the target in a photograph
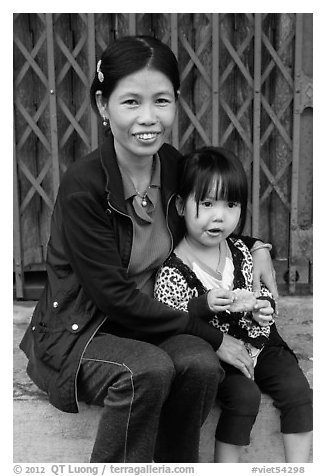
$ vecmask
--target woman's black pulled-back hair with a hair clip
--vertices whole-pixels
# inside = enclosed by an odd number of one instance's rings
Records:
[[[101,56],[100,78],[98,72],[90,89],[91,105],[98,113],[95,94],[102,92],[106,100],[114,91],[117,83],[126,76],[143,68],[159,71],[171,81],[177,99],[180,88],[178,61],[172,50],[157,38],[151,36],[125,36],[117,39]]]

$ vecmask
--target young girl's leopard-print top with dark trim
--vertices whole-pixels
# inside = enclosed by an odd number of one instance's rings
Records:
[[[252,291],[253,264],[248,247],[239,238],[229,237],[227,243],[233,258],[234,289],[245,288]],[[157,273],[154,297],[174,309],[187,311],[189,300],[206,292],[207,289],[195,273],[175,253],[171,254]],[[261,286],[261,296],[274,306],[272,296],[264,285]],[[256,348],[263,347],[270,336],[270,326],[259,326],[253,320],[251,312],[220,312],[213,319],[210,318],[209,323]]]

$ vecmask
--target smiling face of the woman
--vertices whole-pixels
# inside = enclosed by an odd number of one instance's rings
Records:
[[[176,113],[171,81],[144,68],[121,79],[106,111],[120,161],[150,158],[166,141]]]

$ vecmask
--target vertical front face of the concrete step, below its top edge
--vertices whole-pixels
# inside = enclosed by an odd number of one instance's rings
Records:
[[[80,413],[63,413],[46,400],[14,402],[15,463],[88,463],[101,408],[80,405]],[[214,433],[219,408],[206,420],[200,443],[200,462],[214,462]],[[251,444],[242,452],[243,463],[282,463],[284,451],[279,415],[264,395]],[[311,455],[312,462],[312,455]]]

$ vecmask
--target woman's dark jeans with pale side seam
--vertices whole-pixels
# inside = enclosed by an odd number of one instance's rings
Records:
[[[96,335],[78,376],[79,400],[104,407],[91,462],[198,462],[200,429],[223,373],[195,336],[156,346]]]

